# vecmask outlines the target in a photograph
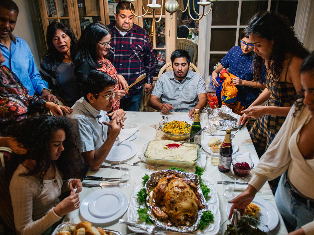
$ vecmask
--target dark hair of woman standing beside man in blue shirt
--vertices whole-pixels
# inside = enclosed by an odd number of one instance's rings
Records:
[[[58,61],[62,62],[63,55],[57,50],[57,48],[53,45],[52,39],[55,36],[58,29],[61,29],[64,33],[66,33],[71,39],[70,51],[72,52],[78,39],[73,34],[72,30],[69,30],[68,27],[59,22],[52,22],[47,27],[46,40],[48,46],[48,54]],[[72,55],[72,53],[71,53]]]

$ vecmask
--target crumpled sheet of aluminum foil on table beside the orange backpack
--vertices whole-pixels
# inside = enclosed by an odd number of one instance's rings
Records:
[[[232,112],[232,110],[225,105],[221,106],[221,108],[205,107],[205,111],[207,113],[208,126],[214,126],[218,130],[226,130],[227,128],[233,129],[233,128],[238,128],[239,126],[240,115]],[[235,122],[235,121],[222,119],[218,115],[219,112],[229,114],[230,116],[236,118],[237,121]]]

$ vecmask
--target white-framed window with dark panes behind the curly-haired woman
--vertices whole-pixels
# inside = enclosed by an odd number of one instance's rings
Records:
[[[200,22],[198,67],[204,74],[205,81],[210,81],[214,66],[224,55],[239,45],[240,35],[249,19],[258,11],[273,11],[288,17],[292,25],[304,17],[297,11],[300,6],[308,4],[307,0],[218,0],[213,2],[212,11]],[[199,45],[200,46],[200,45]],[[206,49],[204,51],[204,48]],[[205,54],[204,54],[205,52]],[[200,58],[200,57],[203,58]],[[203,62],[201,62],[203,61]],[[201,63],[200,63],[201,62]]]

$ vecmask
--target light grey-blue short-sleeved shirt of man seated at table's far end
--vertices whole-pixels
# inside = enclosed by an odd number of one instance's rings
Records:
[[[206,94],[202,75],[188,70],[186,78],[180,82],[171,70],[157,79],[152,95],[160,97],[163,104],[171,104],[174,107],[171,112],[190,112],[197,105],[201,93]]]

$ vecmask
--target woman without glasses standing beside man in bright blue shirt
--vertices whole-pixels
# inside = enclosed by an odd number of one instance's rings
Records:
[[[48,82],[58,100],[72,107],[82,97],[82,87],[76,81],[71,57],[77,39],[67,26],[59,22],[48,25],[46,39],[48,54],[40,63],[41,77]]]

